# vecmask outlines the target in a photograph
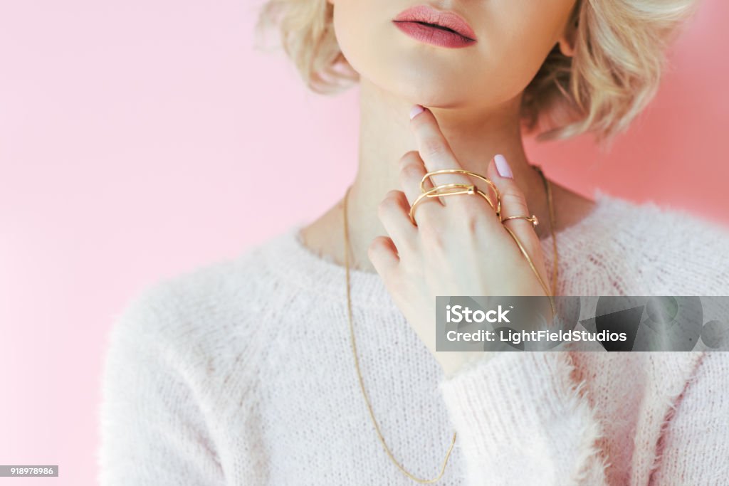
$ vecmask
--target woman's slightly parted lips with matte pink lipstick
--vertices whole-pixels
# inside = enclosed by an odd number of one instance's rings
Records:
[[[476,34],[461,16],[428,5],[410,7],[392,22],[406,35],[426,44],[454,49],[476,43]]]

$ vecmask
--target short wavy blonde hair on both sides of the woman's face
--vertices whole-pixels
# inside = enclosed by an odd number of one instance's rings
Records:
[[[522,98],[526,128],[540,139],[593,133],[600,140],[628,128],[652,100],[665,52],[695,0],[577,0],[570,23],[574,55],[547,55]],[[337,92],[358,74],[340,51],[327,0],[268,0],[258,28],[278,26],[281,44],[317,93]]]

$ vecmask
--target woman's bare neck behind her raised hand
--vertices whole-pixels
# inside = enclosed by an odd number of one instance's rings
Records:
[[[387,234],[378,219],[377,206],[386,192],[402,189],[398,161],[405,152],[415,150],[416,144],[408,126],[412,103],[380,90],[366,79],[361,81],[359,101],[359,165],[347,202],[350,262],[351,267],[374,271],[367,247],[376,236]],[[537,214],[539,221],[548,222],[544,184],[530,167],[522,144],[520,103],[521,97],[491,109],[431,109],[463,168],[486,173],[491,158],[503,154],[516,184],[526,195],[530,212]],[[338,215],[341,221],[341,212]],[[539,238],[548,232],[548,224],[537,226]]]

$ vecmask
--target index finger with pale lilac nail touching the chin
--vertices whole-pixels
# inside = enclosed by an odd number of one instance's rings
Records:
[[[416,105],[410,111],[410,128],[415,133],[418,152],[423,159],[427,171],[440,171],[440,169],[460,169],[461,164],[453,154],[448,140],[440,131],[438,122],[432,111],[423,106]],[[437,181],[434,179],[437,178]],[[437,174],[430,178],[434,184],[471,184],[464,174]]]

